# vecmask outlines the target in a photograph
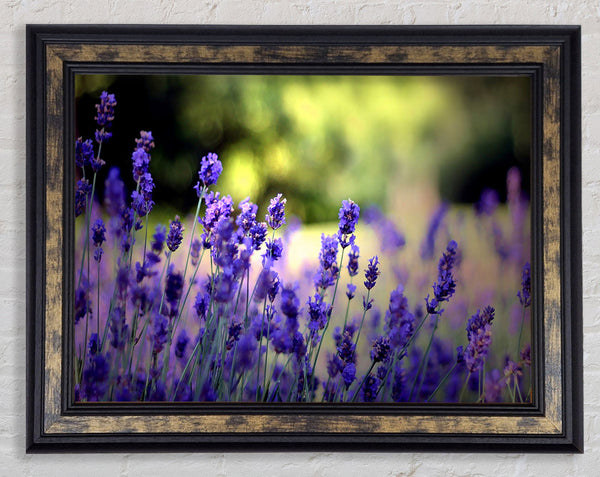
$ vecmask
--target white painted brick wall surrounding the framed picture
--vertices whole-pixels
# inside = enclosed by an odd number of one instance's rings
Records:
[[[585,455],[25,455],[25,24],[581,24]],[[600,465],[598,0],[2,0],[0,2],[0,475],[598,475]]]

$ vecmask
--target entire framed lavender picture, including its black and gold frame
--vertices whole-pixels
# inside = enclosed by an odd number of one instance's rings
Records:
[[[27,52],[28,452],[583,451],[579,27]]]

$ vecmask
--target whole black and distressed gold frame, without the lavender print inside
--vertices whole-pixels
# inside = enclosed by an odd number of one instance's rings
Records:
[[[27,26],[27,443],[32,452],[583,452],[578,26]],[[530,406],[83,403],[72,392],[74,76],[528,76]]]

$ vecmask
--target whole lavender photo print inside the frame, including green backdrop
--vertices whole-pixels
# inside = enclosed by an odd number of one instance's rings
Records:
[[[528,78],[75,91],[76,401],[531,403]]]

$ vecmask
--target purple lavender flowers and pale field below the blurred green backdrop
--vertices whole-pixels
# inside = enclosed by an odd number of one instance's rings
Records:
[[[485,189],[474,207],[390,214],[339,197],[331,222],[302,224],[285,190],[265,210],[234,203],[210,152],[185,191],[195,213],[161,224],[152,133],[120,151],[131,171],[102,155],[116,108],[103,92],[94,140],[75,145],[76,401],[530,402],[518,168],[505,202]]]

